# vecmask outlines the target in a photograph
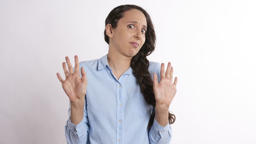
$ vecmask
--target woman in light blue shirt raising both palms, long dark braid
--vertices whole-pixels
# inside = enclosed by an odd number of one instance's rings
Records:
[[[163,63],[146,58],[156,41],[150,16],[136,5],[118,6],[108,15],[104,34],[107,55],[80,63],[75,56],[75,72],[66,57],[65,81],[57,73],[70,100],[67,142],[169,143],[175,116],[168,109],[177,77],[172,83],[170,62],[164,72]]]

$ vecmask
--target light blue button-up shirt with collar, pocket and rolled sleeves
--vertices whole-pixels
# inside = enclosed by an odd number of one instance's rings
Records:
[[[80,62],[87,75],[84,118],[74,125],[70,121],[70,107],[65,135],[69,144],[169,144],[172,129],[148,121],[154,111],[140,92],[132,68],[120,76],[112,73],[107,55],[98,60]],[[160,80],[161,64],[149,62],[149,72]],[[80,72],[81,74],[81,72]]]

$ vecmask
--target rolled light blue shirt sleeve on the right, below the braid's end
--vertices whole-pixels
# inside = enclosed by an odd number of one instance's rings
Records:
[[[169,122],[164,127],[162,127],[156,122],[156,119],[154,118],[154,123],[149,131],[150,144],[169,144],[171,139],[172,128]]]

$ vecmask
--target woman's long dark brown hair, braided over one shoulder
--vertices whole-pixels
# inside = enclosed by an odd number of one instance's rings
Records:
[[[107,24],[111,24],[112,28],[117,27],[118,20],[124,17],[124,13],[131,9],[137,9],[144,13],[147,20],[147,31],[146,31],[146,40],[142,45],[140,51],[132,58],[131,68],[133,69],[133,74],[137,78],[137,82],[140,85],[140,91],[144,95],[144,99],[148,104],[156,106],[156,99],[153,91],[153,81],[151,75],[148,71],[149,61],[147,56],[150,55],[155,50],[156,45],[156,34],[154,26],[152,24],[149,14],[137,5],[120,5],[114,8],[109,14],[105,21],[105,27]],[[104,31],[105,41],[109,44],[109,37]],[[155,117],[155,112],[151,115],[148,128],[150,129],[153,125]],[[173,124],[175,121],[175,115],[169,113],[169,124]]]

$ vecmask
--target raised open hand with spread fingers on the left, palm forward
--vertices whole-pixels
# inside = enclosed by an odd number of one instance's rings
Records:
[[[62,67],[66,76],[66,79],[63,80],[59,73],[57,73],[57,77],[62,84],[63,90],[68,95],[68,98],[71,103],[77,103],[79,101],[84,101],[84,96],[86,94],[87,87],[87,79],[84,68],[81,68],[81,75],[79,74],[79,61],[77,55],[75,56],[75,72],[73,73],[72,65],[66,57],[66,62],[68,65],[68,70],[65,62],[62,63]]]

